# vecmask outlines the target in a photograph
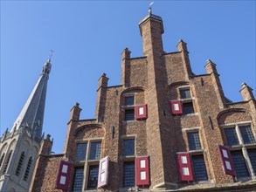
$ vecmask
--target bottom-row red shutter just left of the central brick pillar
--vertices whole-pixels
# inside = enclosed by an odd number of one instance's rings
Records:
[[[149,185],[149,156],[135,157],[136,186]]]

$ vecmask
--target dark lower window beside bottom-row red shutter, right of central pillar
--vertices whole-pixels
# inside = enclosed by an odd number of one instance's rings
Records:
[[[192,166],[193,166],[195,181],[196,182],[207,181],[208,175],[204,165],[204,155],[203,154],[193,155],[191,159],[192,159]]]

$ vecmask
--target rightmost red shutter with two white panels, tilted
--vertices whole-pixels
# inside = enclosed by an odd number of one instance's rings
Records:
[[[222,168],[224,170],[224,173],[226,175],[235,176],[236,172],[232,161],[232,154],[230,153],[229,148],[219,145],[218,152],[221,156]]]

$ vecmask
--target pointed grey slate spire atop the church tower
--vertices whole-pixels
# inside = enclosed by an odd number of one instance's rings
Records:
[[[27,99],[21,113],[19,113],[17,120],[14,122],[10,131],[11,133],[24,128],[33,139],[40,141],[45,113],[47,82],[51,68],[52,64],[50,57],[43,66],[42,73],[40,74],[38,82],[36,86],[34,86],[29,99]]]

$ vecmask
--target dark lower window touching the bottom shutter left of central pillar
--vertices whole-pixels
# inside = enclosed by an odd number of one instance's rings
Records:
[[[135,162],[123,164],[123,187],[135,187]]]

